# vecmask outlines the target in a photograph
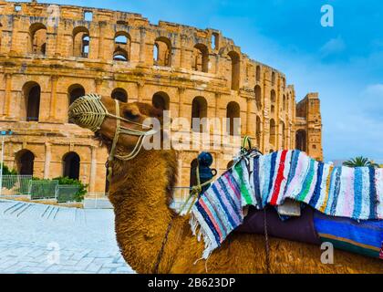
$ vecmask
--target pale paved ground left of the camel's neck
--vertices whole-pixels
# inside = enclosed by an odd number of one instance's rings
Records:
[[[0,273],[134,273],[112,210],[0,200]]]

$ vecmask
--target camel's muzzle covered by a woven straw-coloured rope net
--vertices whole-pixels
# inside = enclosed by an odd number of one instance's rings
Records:
[[[101,97],[96,94],[88,94],[76,99],[68,110],[69,121],[92,131],[100,129],[108,114],[108,110],[101,102]]]

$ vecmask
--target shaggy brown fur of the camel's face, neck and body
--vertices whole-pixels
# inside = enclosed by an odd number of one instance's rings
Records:
[[[102,98],[114,112],[114,100]],[[142,121],[161,117],[160,110],[144,103],[120,105],[121,117]],[[124,127],[139,126],[123,122]],[[116,122],[104,120],[96,138],[109,151]],[[137,128],[140,129],[141,128]],[[129,152],[135,137],[120,137],[117,151]],[[176,183],[177,152],[142,149],[133,160],[112,163],[109,200],[115,213],[115,230],[120,251],[138,273],[265,273],[264,235],[232,233],[208,260],[201,259],[203,241],[191,235],[190,216],[180,216],[170,207]],[[158,270],[155,266],[165,238]],[[277,238],[269,238],[270,273],[383,273],[383,261],[346,251],[334,250],[334,264],[322,264],[323,250]]]

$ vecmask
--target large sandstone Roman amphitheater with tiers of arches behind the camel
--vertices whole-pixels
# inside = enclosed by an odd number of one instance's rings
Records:
[[[298,148],[323,160],[318,94],[297,102],[284,73],[217,29],[0,0],[0,80],[0,128],[15,132],[5,138],[5,164],[39,178],[78,178],[89,193],[108,191],[107,152],[67,120],[69,104],[86,93],[152,103],[171,118],[241,118],[241,135],[261,151]],[[211,152],[223,172],[223,147]],[[193,180],[197,154],[180,152],[179,186]]]

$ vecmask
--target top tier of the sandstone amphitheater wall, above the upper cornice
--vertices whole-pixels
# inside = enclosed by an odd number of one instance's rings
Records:
[[[88,13],[91,19],[86,17]],[[88,34],[87,60],[113,64],[116,49],[122,47],[121,51],[127,51],[129,59],[127,68],[151,68],[158,65],[153,61],[153,47],[163,42],[170,51],[166,65],[172,69],[200,68],[197,70],[208,77],[225,78],[228,85],[233,85],[232,89],[254,89],[256,84],[268,82],[288,94],[282,72],[250,59],[218,30],[164,21],[153,25],[140,14],[108,9],[0,1],[0,55],[36,57],[31,43],[36,29],[41,27],[46,28],[44,55],[47,58],[86,61],[74,56],[74,52],[78,34]],[[116,43],[116,37],[122,35],[128,38],[126,47]],[[202,55],[201,60],[195,61],[195,54]],[[206,60],[205,66],[196,64],[203,60]]]

